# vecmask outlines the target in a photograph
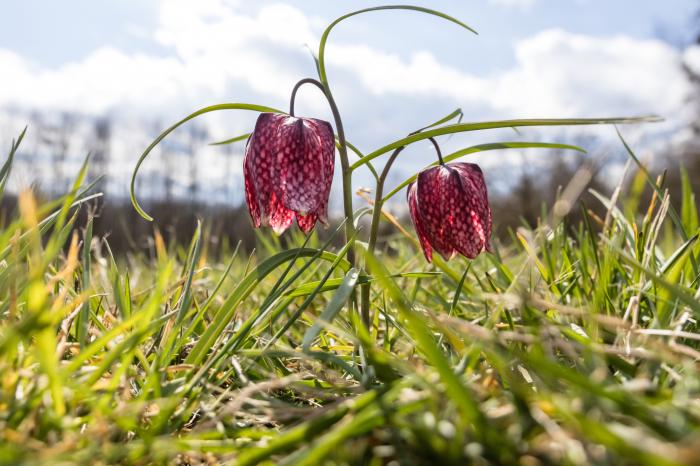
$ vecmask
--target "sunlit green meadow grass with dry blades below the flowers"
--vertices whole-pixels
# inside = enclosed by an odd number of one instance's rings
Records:
[[[4,464],[700,462],[687,177],[671,203],[638,170],[604,218],[543,212],[473,262],[395,229],[364,277],[337,235],[112,257],[76,225],[84,175],[0,231]],[[342,306],[367,281],[369,331]]]

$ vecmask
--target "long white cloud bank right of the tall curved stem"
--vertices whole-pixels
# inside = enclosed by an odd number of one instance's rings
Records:
[[[497,76],[443,65],[425,51],[407,61],[361,45],[329,53],[331,63],[357,73],[374,94],[448,97],[505,117],[669,115],[689,91],[681,55],[664,42],[558,29],[518,42],[515,64]]]

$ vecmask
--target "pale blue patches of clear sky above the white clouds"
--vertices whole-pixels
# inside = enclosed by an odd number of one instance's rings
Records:
[[[268,0],[238,2],[236,8],[254,13]],[[377,5],[378,2],[304,0],[286,1],[309,15],[330,20],[350,8]],[[625,34],[631,37],[659,37],[683,44],[689,39],[691,17],[697,12],[694,0],[501,0],[499,1],[431,1],[415,2],[431,6],[464,20],[481,35],[478,62],[474,69],[498,69],[512,61],[510,45],[519,39],[547,28],[605,36]],[[13,50],[43,65],[60,65],[80,60],[95,49],[112,45],[125,51],[145,51],[166,55],[168,50],[153,43],[149,31],[157,28],[160,2],[143,0],[23,0],[3,8],[0,47]],[[353,40],[358,31],[368,42],[398,53],[415,48],[439,50],[454,43],[455,31],[433,27],[430,21],[403,14],[390,23],[386,15],[355,19],[354,24],[338,30],[339,40]],[[373,23],[377,28],[372,27]],[[406,34],[411,30],[427,34]],[[451,54],[444,57],[451,60]],[[475,57],[476,58],[476,57]],[[453,60],[455,60],[453,58]],[[456,62],[457,60],[455,60]]]

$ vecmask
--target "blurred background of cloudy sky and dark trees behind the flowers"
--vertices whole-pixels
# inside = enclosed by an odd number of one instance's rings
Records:
[[[451,14],[472,35],[411,12],[342,23],[327,49],[329,80],[348,139],[364,152],[461,108],[465,121],[655,114],[620,130],[677,187],[684,165],[700,189],[700,6],[695,0],[413,2]],[[85,156],[105,193],[95,228],[116,250],[144,247],[153,225],[128,200],[135,161],[164,128],[203,106],[249,102],[287,109],[293,85],[315,77],[311,50],[326,25],[377,2],[295,0],[25,0],[4,6],[0,28],[0,142],[28,126],[9,183],[43,197],[69,189]],[[390,16],[390,20],[387,17]],[[31,27],[27,27],[31,25]],[[313,88],[297,114],[332,120]],[[137,193],[170,240],[205,218],[214,241],[254,236],[243,203],[244,142],[255,114],[218,112],[168,137],[144,164]],[[581,191],[610,191],[628,160],[612,127],[491,131],[442,138],[443,151],[499,141],[564,142],[588,155],[544,150],[472,157],[489,185],[497,234],[534,224],[575,173]],[[389,188],[434,160],[406,150]],[[381,166],[383,159],[377,162]],[[357,172],[355,188],[371,186]],[[336,177],[331,209],[339,214]],[[406,213],[404,196],[389,209]],[[356,199],[357,205],[363,201]],[[596,208],[594,199],[584,202]],[[14,200],[3,200],[14,209]],[[572,210],[574,215],[576,210]]]

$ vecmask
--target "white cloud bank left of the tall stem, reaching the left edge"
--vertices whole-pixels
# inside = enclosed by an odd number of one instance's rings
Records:
[[[159,23],[152,39],[169,55],[103,47],[48,68],[0,49],[0,105],[155,116],[235,94],[286,100],[302,44],[315,40],[307,18],[282,4],[246,16],[225,0],[162,0]]]

